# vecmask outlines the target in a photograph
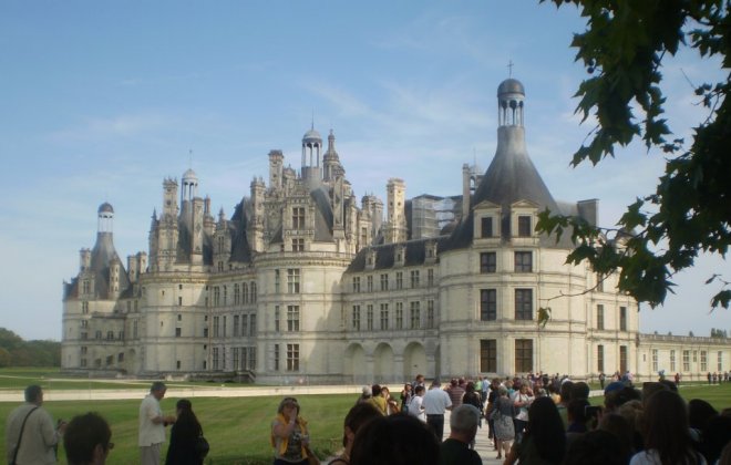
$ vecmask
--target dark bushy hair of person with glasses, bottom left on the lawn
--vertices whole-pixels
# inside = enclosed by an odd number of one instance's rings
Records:
[[[104,451],[113,447],[110,443],[112,430],[106,421],[94,412],[74,416],[63,434],[63,448],[70,465],[90,464],[94,450],[101,445]]]

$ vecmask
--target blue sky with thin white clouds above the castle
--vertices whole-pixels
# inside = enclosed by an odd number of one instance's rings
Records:
[[[574,8],[535,1],[3,1],[0,3],[0,327],[25,339],[61,337],[62,282],[92,247],[96,209],[115,209],[123,259],[147,250],[162,182],[192,167],[202,195],[227,216],[267,153],[299,168],[312,120],[330,128],[358,197],[461,192],[463,163],[484,170],[495,151],[496,89],[526,87],[528,153],[554,197],[600,199],[600,221],[652,192],[661,154],[641,145],[598,167],[568,166],[589,124],[572,99],[581,79],[569,49],[584,23]],[[682,70],[682,72],[681,72]],[[706,117],[688,80],[719,63],[682,53],[663,69],[671,127]],[[731,268],[702,259],[676,279],[641,330],[708,334]]]

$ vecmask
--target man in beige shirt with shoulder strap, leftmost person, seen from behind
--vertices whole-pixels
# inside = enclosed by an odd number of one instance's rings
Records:
[[[55,447],[66,428],[58,430],[51,414],[42,407],[43,390],[38,384],[25,388],[25,403],[10,412],[6,423],[6,458],[9,464],[55,464]]]

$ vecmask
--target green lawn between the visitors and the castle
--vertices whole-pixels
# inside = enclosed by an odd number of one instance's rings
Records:
[[[3,372],[0,372],[4,374]],[[40,382],[44,379],[33,375],[45,372],[29,370],[23,373],[22,386]],[[25,378],[27,376],[27,378]],[[148,386],[148,382],[144,382]],[[119,386],[115,384],[115,386]],[[138,385],[134,385],[138,388]],[[20,386],[17,389],[21,389]],[[53,385],[48,389],[55,389]],[[731,406],[731,384],[682,386],[683,397],[703,399],[717,410]],[[353,405],[357,395],[302,395],[299,402],[302,416],[310,424],[310,436],[315,451],[320,456],[328,456],[340,448],[342,437],[342,421],[348,410]],[[137,463],[137,410],[140,400],[133,401],[80,401],[80,402],[45,402],[44,407],[54,418],[69,420],[73,415],[95,411],[107,418],[112,425],[112,441],[115,444],[107,463],[126,465]],[[203,428],[210,443],[210,454],[206,464],[270,464],[271,448],[269,446],[269,425],[274,418],[281,396],[237,397],[237,399],[193,399],[193,409],[198,415]],[[175,397],[166,397],[162,402],[166,413],[174,413]],[[600,401],[599,397],[594,400]],[[16,403],[0,403],[0,415],[6,418]],[[0,434],[4,438],[4,421],[0,424]],[[169,434],[169,433],[168,433]],[[480,440],[478,440],[480,441]],[[0,442],[0,457],[4,454],[4,441]],[[166,445],[163,446],[166,451]],[[59,463],[65,464],[62,448],[59,451]]]

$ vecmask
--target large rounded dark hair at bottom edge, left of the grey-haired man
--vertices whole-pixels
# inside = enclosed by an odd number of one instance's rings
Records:
[[[379,416],[356,434],[350,465],[437,465],[440,447],[434,433],[415,416]]]

